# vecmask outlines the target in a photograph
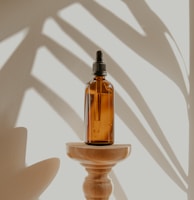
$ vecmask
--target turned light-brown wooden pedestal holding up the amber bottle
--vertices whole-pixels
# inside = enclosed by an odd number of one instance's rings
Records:
[[[67,154],[80,162],[88,172],[83,184],[87,200],[108,200],[112,183],[108,173],[117,162],[125,159],[131,151],[130,144],[92,146],[84,143],[67,143]]]

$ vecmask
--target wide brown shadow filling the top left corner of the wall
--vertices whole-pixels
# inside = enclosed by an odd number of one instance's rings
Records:
[[[1,1],[0,7],[0,41],[4,40],[26,27],[33,28],[37,23],[44,22],[53,13],[77,2],[76,0],[33,1],[29,4],[25,0]],[[35,12],[36,11],[36,12]],[[34,40],[36,41],[36,40]]]

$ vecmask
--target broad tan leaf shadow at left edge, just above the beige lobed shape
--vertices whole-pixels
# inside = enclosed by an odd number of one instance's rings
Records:
[[[36,34],[40,33],[41,27],[42,24],[37,23],[29,31],[0,71],[0,99],[1,104],[4,103],[7,109],[1,116],[1,130],[4,126],[6,126],[5,129],[15,126],[24,93],[28,89],[28,78],[36,56],[36,49],[39,46],[39,43],[33,42],[32,44],[31,41]]]

